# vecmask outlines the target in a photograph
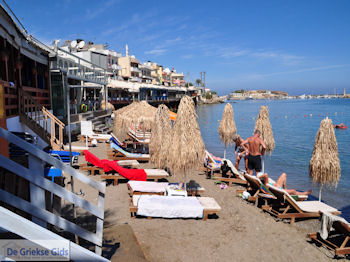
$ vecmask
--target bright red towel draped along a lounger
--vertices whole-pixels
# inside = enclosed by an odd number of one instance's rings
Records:
[[[116,171],[123,177],[129,180],[146,181],[147,174],[144,169],[127,169],[118,165],[117,161],[110,161],[107,159],[99,159],[94,154],[87,150],[84,150],[86,162],[91,163],[94,166],[103,168],[104,172]]]

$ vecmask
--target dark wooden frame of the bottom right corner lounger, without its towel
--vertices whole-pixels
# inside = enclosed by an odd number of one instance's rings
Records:
[[[318,232],[308,234],[308,237],[318,244],[332,250],[336,256],[350,254],[350,226],[341,221],[333,222],[333,230],[327,239],[322,239]]]

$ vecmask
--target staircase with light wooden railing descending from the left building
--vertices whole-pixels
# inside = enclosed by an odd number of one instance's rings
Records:
[[[19,119],[51,145],[53,150],[62,149],[65,125],[21,88],[19,88]]]

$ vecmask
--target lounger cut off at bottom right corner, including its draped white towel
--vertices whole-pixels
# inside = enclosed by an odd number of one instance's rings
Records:
[[[330,232],[324,228],[325,226],[329,227]],[[327,230],[326,234],[322,232],[324,230]],[[350,223],[344,218],[322,213],[320,232],[310,233],[308,237],[332,250],[336,256],[350,254]]]

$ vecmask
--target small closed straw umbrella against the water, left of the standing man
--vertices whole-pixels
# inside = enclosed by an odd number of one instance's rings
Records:
[[[224,158],[226,158],[226,147],[233,144],[234,135],[237,133],[233,108],[231,104],[226,104],[219,126],[220,140],[225,144]]]

